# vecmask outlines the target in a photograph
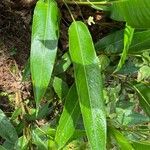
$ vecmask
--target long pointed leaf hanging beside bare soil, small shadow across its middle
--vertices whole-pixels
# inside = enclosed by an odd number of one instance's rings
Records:
[[[39,0],[32,25],[31,76],[36,105],[48,87],[58,44],[58,8],[54,0]]]

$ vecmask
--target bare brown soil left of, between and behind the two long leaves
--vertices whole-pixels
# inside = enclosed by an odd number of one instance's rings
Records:
[[[28,2],[28,3],[26,3]],[[32,15],[36,1],[2,0],[0,4],[0,90],[15,94],[19,91],[23,99],[33,96],[30,81],[22,82],[22,71],[29,58],[31,43]],[[59,48],[64,53],[68,48],[68,27],[72,22],[68,9],[59,3],[61,26]],[[76,20],[93,17],[94,24],[88,25],[93,40],[107,35],[120,24],[112,22],[103,12],[85,6],[70,6]],[[7,103],[6,98],[0,96]],[[0,105],[0,108],[4,107]]]

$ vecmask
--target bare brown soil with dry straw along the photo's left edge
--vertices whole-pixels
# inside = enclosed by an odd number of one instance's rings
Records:
[[[0,4],[0,108],[12,110],[9,95],[17,93],[23,99],[30,96],[30,82],[22,82],[22,71],[29,58],[31,16],[33,9],[14,7],[14,1],[2,0]]]

